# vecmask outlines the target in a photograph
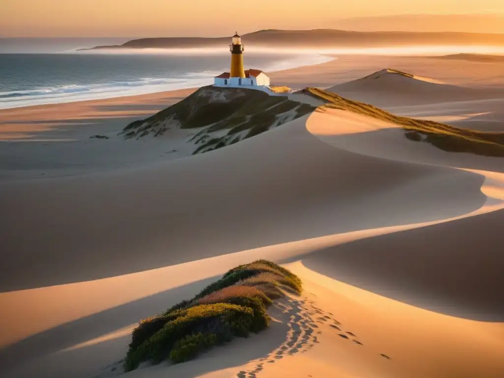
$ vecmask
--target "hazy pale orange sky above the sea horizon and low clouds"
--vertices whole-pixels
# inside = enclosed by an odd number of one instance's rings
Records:
[[[0,0],[0,36],[222,36],[405,13],[504,14],[504,0]]]

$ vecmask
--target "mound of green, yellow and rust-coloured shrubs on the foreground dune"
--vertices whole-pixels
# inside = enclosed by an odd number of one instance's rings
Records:
[[[259,277],[257,282],[254,277]],[[124,369],[133,370],[143,361],[187,361],[233,337],[266,329],[266,308],[284,295],[282,288],[300,293],[301,280],[270,261],[229,270],[191,300],[141,321],[133,331]]]

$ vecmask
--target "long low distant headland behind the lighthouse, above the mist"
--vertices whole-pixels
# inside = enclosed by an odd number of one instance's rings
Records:
[[[249,46],[257,47],[385,47],[406,45],[504,45],[504,34],[454,32],[355,32],[336,29],[260,30],[243,35]],[[96,46],[80,50],[126,48],[202,48],[222,46],[229,36],[217,38],[141,38],[121,45]]]

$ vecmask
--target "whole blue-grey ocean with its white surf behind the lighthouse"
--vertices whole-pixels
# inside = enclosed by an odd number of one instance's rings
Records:
[[[244,59],[246,68],[271,72],[333,58],[249,52]],[[229,52],[0,53],[0,109],[201,87],[229,64]]]

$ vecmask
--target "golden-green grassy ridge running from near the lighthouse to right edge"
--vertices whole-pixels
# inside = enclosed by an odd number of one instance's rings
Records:
[[[406,138],[412,141],[427,142],[449,152],[504,157],[504,133],[460,129],[430,120],[402,117],[318,88],[310,87],[303,91],[327,101],[325,107],[352,111],[400,125],[405,130]],[[323,111],[324,107],[319,108],[319,110]]]

